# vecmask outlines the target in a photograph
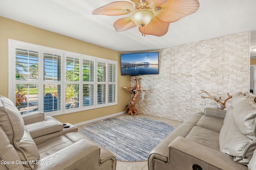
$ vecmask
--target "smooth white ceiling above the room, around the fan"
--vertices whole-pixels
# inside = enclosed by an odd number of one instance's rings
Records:
[[[256,30],[256,0],[199,0],[199,10],[170,23],[168,33],[162,37],[144,37],[138,27],[116,32],[113,23],[128,15],[92,15],[94,9],[114,1],[0,0],[0,16],[122,53],[152,51]],[[256,47],[256,41],[251,47]]]

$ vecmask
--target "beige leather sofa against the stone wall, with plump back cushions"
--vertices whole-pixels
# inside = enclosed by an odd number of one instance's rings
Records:
[[[149,170],[256,170],[256,96],[241,92],[227,111],[206,108],[148,157]]]

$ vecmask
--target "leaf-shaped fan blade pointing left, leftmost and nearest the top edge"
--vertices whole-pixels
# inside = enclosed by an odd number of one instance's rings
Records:
[[[126,1],[117,1],[102,6],[92,12],[94,15],[121,16],[134,10],[134,5]]]

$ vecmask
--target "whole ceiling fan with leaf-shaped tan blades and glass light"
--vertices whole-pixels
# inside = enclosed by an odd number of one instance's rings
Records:
[[[139,26],[142,35],[163,36],[171,22],[193,14],[199,8],[198,0],[131,0],[116,1],[92,12],[94,15],[121,16],[131,14],[114,23],[116,31]]]

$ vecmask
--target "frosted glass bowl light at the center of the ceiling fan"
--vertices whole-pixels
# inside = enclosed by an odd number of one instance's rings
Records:
[[[141,9],[132,13],[130,18],[139,27],[144,27],[154,18],[154,12],[147,9]]]

